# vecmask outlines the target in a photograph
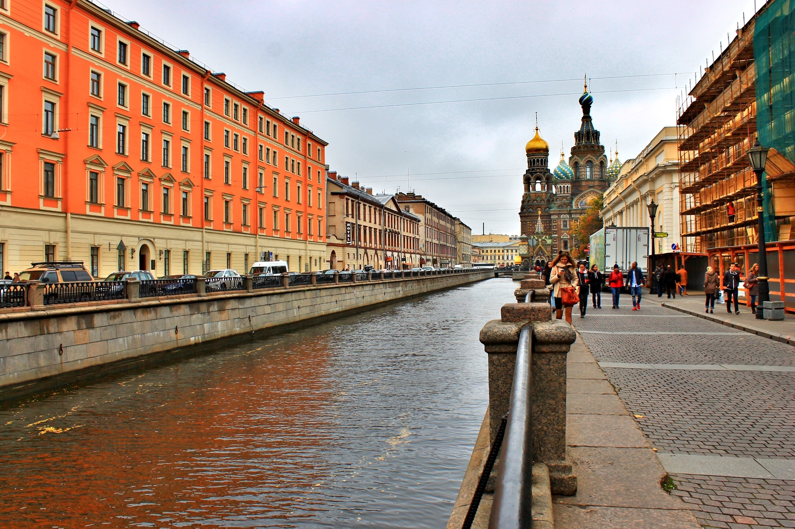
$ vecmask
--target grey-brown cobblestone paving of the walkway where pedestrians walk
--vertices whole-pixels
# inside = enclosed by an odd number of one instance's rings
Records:
[[[588,315],[575,317],[574,325],[600,362],[795,365],[792,346],[695,316],[683,317],[653,302],[641,311],[632,311],[631,305],[601,311],[589,307]],[[661,334],[632,334],[637,332]],[[698,334],[668,334],[683,332]],[[661,454],[795,459],[795,373],[603,371]],[[795,527],[795,481],[672,477],[677,484],[673,493],[691,506],[703,527]]]

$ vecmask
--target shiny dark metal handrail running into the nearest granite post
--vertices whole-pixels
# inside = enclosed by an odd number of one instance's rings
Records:
[[[533,524],[533,350],[530,326],[519,334],[508,424],[502,442],[490,529],[519,529]]]

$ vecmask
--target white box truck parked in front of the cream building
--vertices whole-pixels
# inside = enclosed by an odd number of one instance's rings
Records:
[[[607,273],[618,264],[626,276],[632,263],[637,262],[643,275],[648,277],[649,228],[605,226],[591,234],[589,255],[591,266],[596,264]]]

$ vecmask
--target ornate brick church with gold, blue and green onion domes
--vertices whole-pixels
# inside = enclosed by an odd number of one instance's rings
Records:
[[[580,215],[619,175],[618,151],[615,160],[608,163],[604,146],[599,143],[599,130],[591,120],[593,101],[586,85],[579,100],[583,118],[574,133],[568,163],[561,148],[560,162],[550,172],[549,144],[541,137],[538,126],[533,139],[525,145],[527,171],[522,176],[524,195],[519,210],[523,267],[549,261],[560,250],[576,249],[574,232]]]

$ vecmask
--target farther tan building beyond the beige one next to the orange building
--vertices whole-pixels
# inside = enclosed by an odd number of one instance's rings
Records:
[[[456,219],[422,195],[397,193],[404,211],[420,218],[420,264],[452,268],[456,261]]]

